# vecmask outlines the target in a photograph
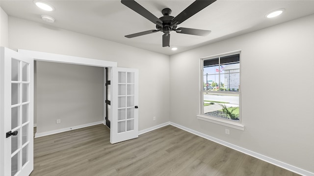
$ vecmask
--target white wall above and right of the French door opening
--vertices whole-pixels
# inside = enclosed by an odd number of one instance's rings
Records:
[[[37,22],[8,19],[11,49],[113,61],[120,67],[139,69],[139,130],[169,121],[169,56]]]

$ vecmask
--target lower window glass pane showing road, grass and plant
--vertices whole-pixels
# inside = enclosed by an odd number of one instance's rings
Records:
[[[204,114],[239,120],[239,95],[204,93]]]

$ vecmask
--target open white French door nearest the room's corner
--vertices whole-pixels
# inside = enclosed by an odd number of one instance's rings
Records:
[[[110,143],[138,137],[138,70],[111,68]]]

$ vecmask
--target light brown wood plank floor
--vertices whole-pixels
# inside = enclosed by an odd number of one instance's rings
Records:
[[[168,125],[110,144],[96,125],[34,139],[30,176],[298,176]]]

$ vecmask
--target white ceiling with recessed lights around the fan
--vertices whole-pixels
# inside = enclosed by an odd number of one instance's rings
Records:
[[[172,55],[268,26],[314,14],[314,0],[217,0],[178,27],[211,30],[206,37],[171,32],[170,48],[162,47],[162,32],[128,39],[125,35],[156,29],[148,21],[123,5],[120,0],[44,0],[55,10],[39,9],[32,0],[0,0],[1,8],[9,15],[45,23],[105,40],[127,44],[158,53]],[[194,0],[136,0],[152,14],[161,17],[163,8],[176,17]],[[285,12],[276,18],[265,15],[276,9]],[[41,15],[49,15],[54,23],[44,22]],[[291,34],[293,35],[293,34]]]

